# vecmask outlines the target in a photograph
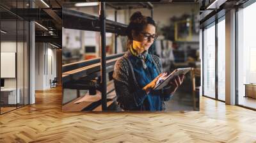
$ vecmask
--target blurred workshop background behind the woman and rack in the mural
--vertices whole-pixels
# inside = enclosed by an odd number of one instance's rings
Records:
[[[63,13],[63,25],[74,24],[72,28],[62,29],[62,63],[73,64],[100,57],[100,32],[97,27],[87,26],[92,17],[99,17],[99,3],[65,3],[63,10],[84,13],[87,17],[80,24]],[[152,9],[154,8],[154,9]],[[129,24],[129,17],[135,11],[153,17],[157,24],[158,38],[149,52],[161,58],[164,72],[176,68],[192,67],[193,72],[186,75],[184,84],[166,103],[168,110],[198,110],[200,86],[200,49],[199,49],[199,4],[198,3],[106,3],[106,19],[120,24]],[[67,19],[67,20],[65,20]],[[77,27],[76,27],[77,26]],[[111,29],[111,23],[106,28]],[[115,40],[116,39],[116,40]],[[127,36],[106,33],[106,55],[121,54],[127,50]],[[195,91],[196,94],[193,94]],[[63,87],[63,104],[84,96],[86,90]]]

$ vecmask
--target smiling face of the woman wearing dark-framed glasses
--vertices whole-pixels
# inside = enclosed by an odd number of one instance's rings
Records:
[[[154,42],[154,38],[152,36],[156,36],[156,27],[152,24],[147,24],[144,26],[143,31],[139,33],[137,36],[133,35],[132,46],[137,52],[141,53],[145,50],[148,50],[149,47]]]

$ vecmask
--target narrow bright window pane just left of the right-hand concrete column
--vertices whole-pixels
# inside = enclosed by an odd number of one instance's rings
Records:
[[[218,99],[225,101],[225,19],[218,23]]]

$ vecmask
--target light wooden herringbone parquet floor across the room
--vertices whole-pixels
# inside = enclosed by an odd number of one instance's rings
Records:
[[[256,112],[200,98],[200,112],[63,113],[61,88],[0,116],[0,142],[256,142]]]

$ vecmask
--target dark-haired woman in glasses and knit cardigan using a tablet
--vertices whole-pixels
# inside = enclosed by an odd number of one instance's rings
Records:
[[[127,27],[128,50],[115,64],[113,79],[118,105],[124,110],[164,110],[164,101],[180,86],[184,75],[170,82],[170,86],[152,91],[163,75],[159,57],[148,54],[156,40],[156,24],[151,17],[135,12]]]

